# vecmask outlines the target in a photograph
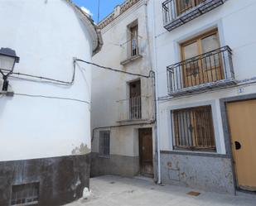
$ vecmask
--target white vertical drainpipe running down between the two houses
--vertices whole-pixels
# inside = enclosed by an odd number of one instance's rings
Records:
[[[152,17],[156,17],[156,8],[155,8],[155,1],[152,1],[153,7],[153,15]],[[161,175],[161,158],[160,158],[160,132],[159,132],[159,101],[158,101],[158,73],[157,73],[157,38],[156,38],[156,19],[153,20],[153,55],[154,55],[154,70],[155,70],[155,93],[156,93],[156,109],[157,109],[157,169],[158,169],[158,182],[157,184],[162,184],[162,175]]]

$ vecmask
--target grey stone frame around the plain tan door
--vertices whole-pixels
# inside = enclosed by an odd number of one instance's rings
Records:
[[[233,156],[232,146],[231,146],[232,141],[231,141],[231,136],[229,133],[229,119],[228,119],[228,113],[227,113],[227,103],[243,102],[243,101],[255,100],[255,99],[256,99],[256,93],[249,93],[249,94],[244,94],[244,95],[230,97],[230,98],[220,98],[220,113],[221,113],[223,132],[224,132],[224,137],[225,137],[225,149],[226,149],[227,155],[229,156],[229,158],[231,160],[233,179],[234,179],[234,194],[236,194],[236,191],[244,191],[244,192],[248,192],[248,193],[252,193],[252,192],[243,190],[243,189],[239,189],[237,175],[235,172],[234,156]]]

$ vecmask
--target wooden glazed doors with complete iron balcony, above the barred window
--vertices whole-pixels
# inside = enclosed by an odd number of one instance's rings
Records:
[[[237,84],[229,46],[220,47],[218,30],[205,32],[181,45],[181,62],[167,66],[168,92],[183,95]]]

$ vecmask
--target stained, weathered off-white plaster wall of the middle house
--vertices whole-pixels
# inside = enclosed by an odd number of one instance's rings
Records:
[[[117,17],[114,22],[102,30],[104,46],[94,55],[93,61],[99,65],[114,69],[148,75],[152,69],[151,56],[147,38],[147,7],[140,1],[128,11]],[[138,20],[139,54],[141,59],[128,65],[120,65],[128,58],[128,25]],[[151,43],[151,42],[150,42]],[[118,125],[120,114],[127,113],[125,107],[118,103],[128,99],[128,82],[138,79],[136,76],[116,72],[93,69],[92,85],[92,128]],[[153,94],[152,79],[141,78],[142,118],[152,120]],[[125,102],[123,102],[125,103]],[[136,122],[130,122],[136,123]],[[148,126],[149,127],[149,126]],[[92,151],[99,151],[99,130],[94,133]],[[110,154],[121,156],[138,156],[138,128],[134,126],[112,128],[110,133]]]

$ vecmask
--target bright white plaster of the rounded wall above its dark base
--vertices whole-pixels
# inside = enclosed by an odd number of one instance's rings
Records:
[[[73,57],[91,60],[91,36],[63,0],[2,0],[0,46],[16,50],[15,72],[70,81]],[[15,93],[90,102],[90,66],[78,64],[75,84],[60,86],[10,78]],[[89,104],[14,95],[0,98],[0,161],[69,156],[90,148]],[[85,150],[78,151],[78,154]]]

